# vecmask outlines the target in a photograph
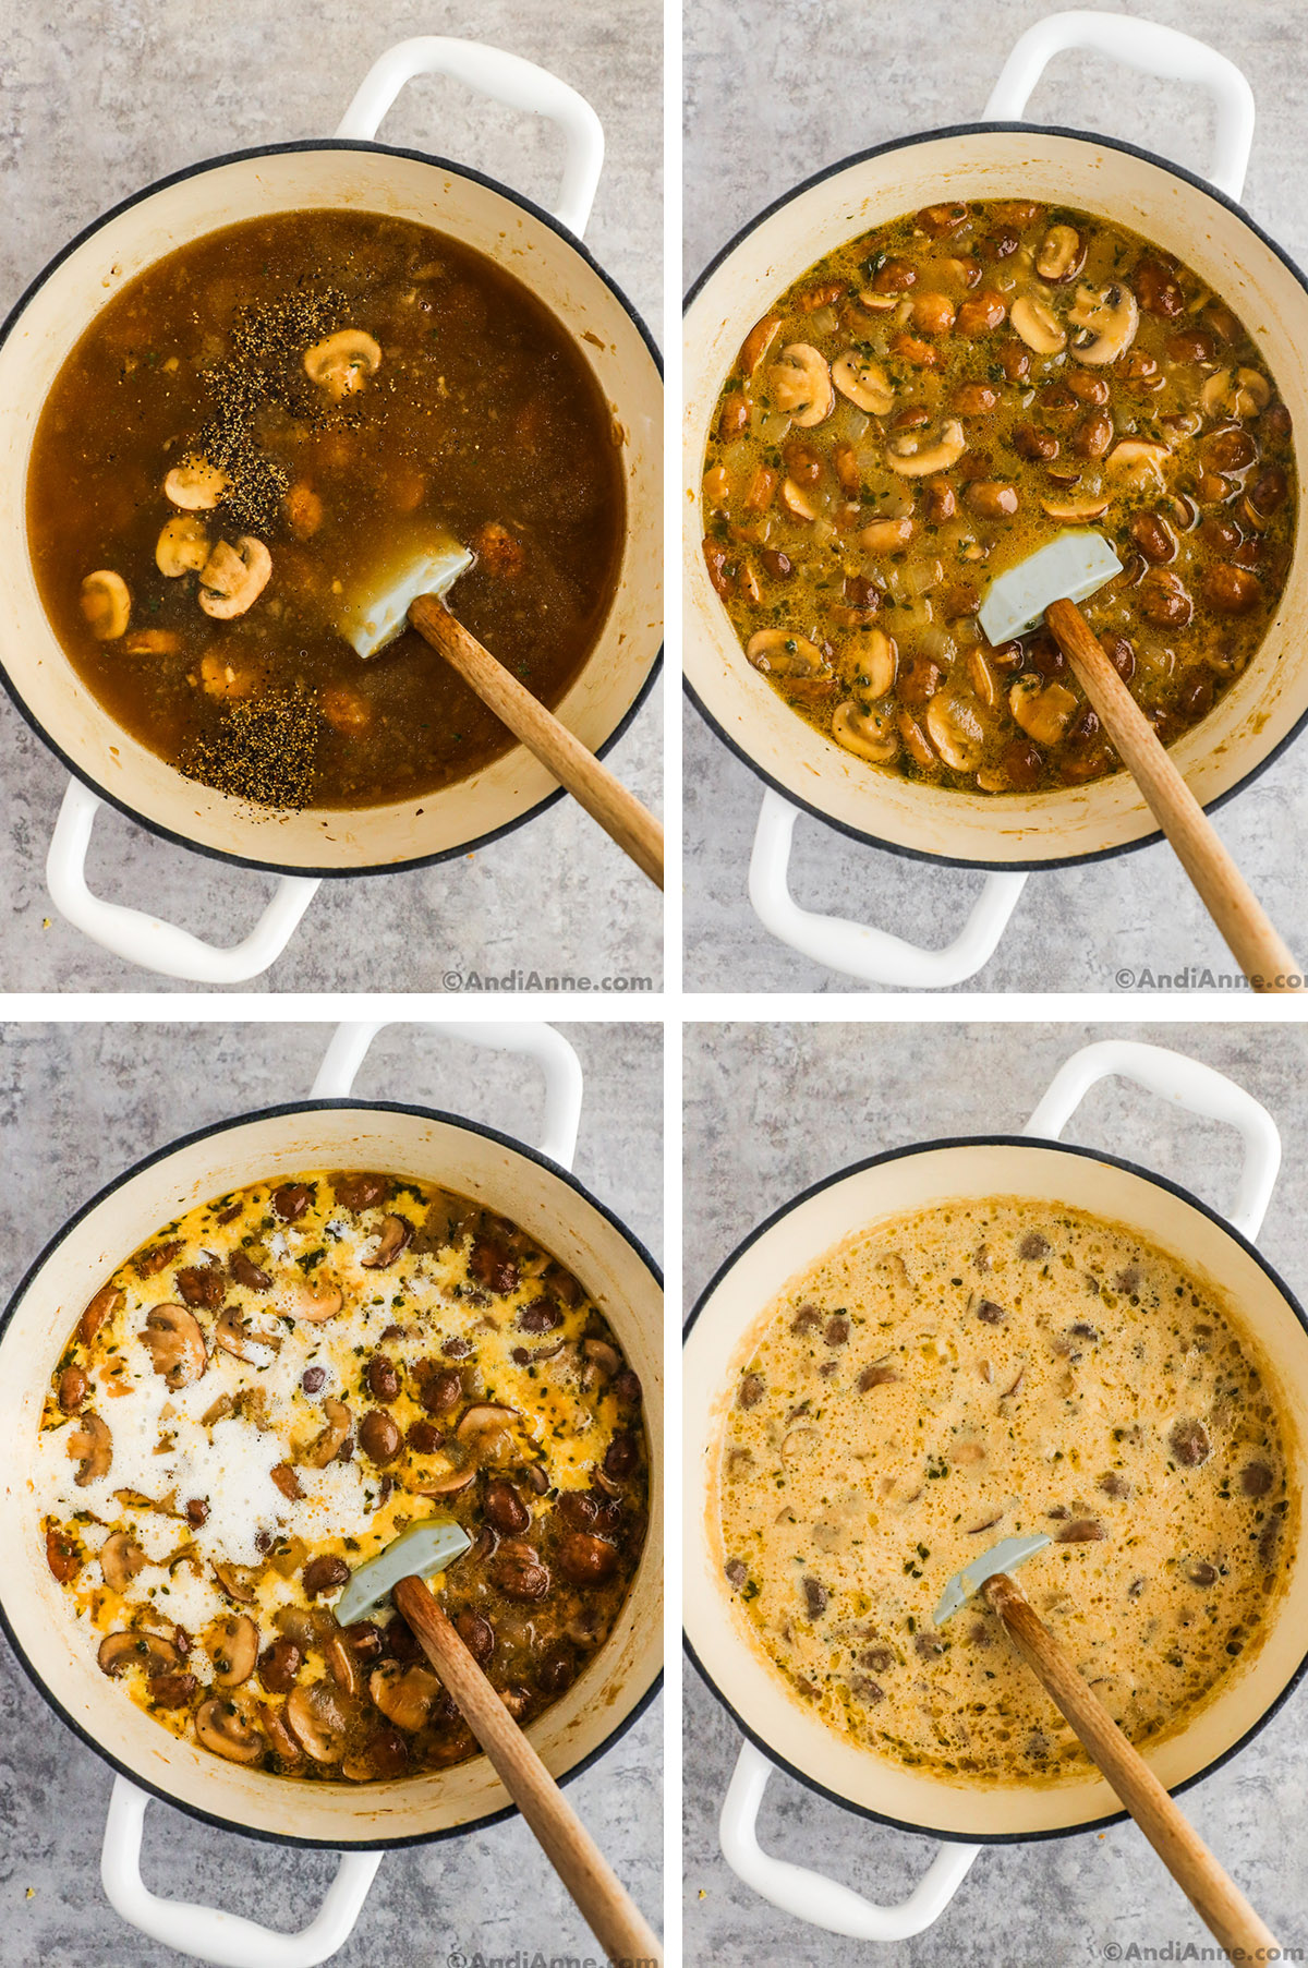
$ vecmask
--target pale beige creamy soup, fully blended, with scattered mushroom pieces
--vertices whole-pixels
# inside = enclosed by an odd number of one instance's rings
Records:
[[[714,1513],[751,1641],[832,1730],[946,1779],[1088,1759],[948,1578],[1046,1531],[1019,1584],[1135,1744],[1259,1649],[1294,1563],[1286,1425],[1237,1313],[1064,1204],[940,1204],[828,1252],[740,1362]]]

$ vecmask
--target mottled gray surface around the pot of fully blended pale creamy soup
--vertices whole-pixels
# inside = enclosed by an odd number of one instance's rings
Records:
[[[1284,1165],[1259,1242],[1290,1289],[1308,1297],[1308,1035],[1298,1025],[690,1025],[686,1307],[753,1224],[808,1183],[911,1141],[1017,1134],[1062,1061],[1103,1037],[1145,1039],[1202,1059],[1271,1110]],[[1235,1132],[1125,1082],[1100,1082],[1064,1139],[1109,1147],[1218,1210],[1235,1197]],[[1184,1797],[1200,1836],[1284,1948],[1308,1946],[1306,1724],[1308,1691],[1300,1689],[1249,1750]],[[850,1968],[881,1958],[913,1968],[944,1960],[1090,1968],[1109,1944],[1212,1946],[1133,1824],[981,1852],[944,1917],[893,1954],[824,1935],[757,1899],[722,1858],[718,1811],[740,1734],[688,1663],[684,1738],[688,1968],[753,1968],[759,1960]],[[787,1775],[773,1775],[767,1787],[759,1840],[765,1852],[885,1901],[913,1889],[932,1850],[924,1838],[840,1811]]]

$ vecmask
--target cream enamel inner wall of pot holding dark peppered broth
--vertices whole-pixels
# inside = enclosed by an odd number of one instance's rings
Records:
[[[26,525],[41,403],[96,311],[189,240],[311,207],[387,213],[448,232],[531,287],[570,331],[622,437],[627,529],[608,622],[557,714],[592,752],[620,732],[663,634],[663,390],[645,331],[570,234],[533,207],[443,161],[358,144],[252,152],[165,181],[98,220],[20,303],[0,346],[0,665],[20,710],[59,756],[153,829],[262,866],[360,874],[482,842],[559,797],[559,783],[513,746],[456,785],[364,811],[260,813],[197,785],[128,736],[77,677],[45,620]]]

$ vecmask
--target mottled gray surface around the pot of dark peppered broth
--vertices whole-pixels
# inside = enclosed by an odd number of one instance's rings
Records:
[[[586,244],[661,335],[663,10],[659,0],[0,0],[0,319],[75,232],[118,199],[218,152],[330,136],[372,61],[417,33],[490,41],[553,69],[608,140]],[[553,124],[454,83],[409,83],[382,142],[470,163],[543,205]],[[663,691],[608,764],[655,809]],[[148,972],[53,915],[43,864],[65,773],[0,695],[0,984],[140,990]],[[208,941],[238,941],[271,893],[250,874],[155,840],[106,809],[90,888]],[[51,921],[53,917],[53,921]],[[437,990],[443,970],[568,968],[659,976],[659,895],[572,801],[476,856],[327,882],[289,951],[242,990]],[[157,980],[155,990],[189,990]]]

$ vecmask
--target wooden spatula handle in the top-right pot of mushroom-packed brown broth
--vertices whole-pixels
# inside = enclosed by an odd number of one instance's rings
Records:
[[[1255,990],[1300,990],[1298,984],[1277,982],[1302,972],[1145,712],[1105,657],[1086,616],[1076,602],[1052,602],[1044,610],[1044,620],[1243,974]]]

